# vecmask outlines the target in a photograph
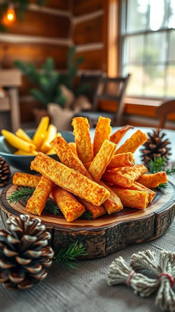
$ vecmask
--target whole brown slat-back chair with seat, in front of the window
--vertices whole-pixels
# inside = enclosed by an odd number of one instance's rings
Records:
[[[125,104],[123,98],[125,95],[126,86],[130,75],[127,77],[101,77],[99,79],[97,92],[94,97],[93,110],[87,112],[80,112],[75,117],[87,117],[90,126],[93,126],[97,122],[99,116],[110,118],[113,122],[113,126],[120,126]],[[100,111],[98,103],[100,100],[114,101],[118,103],[118,109],[116,112]]]

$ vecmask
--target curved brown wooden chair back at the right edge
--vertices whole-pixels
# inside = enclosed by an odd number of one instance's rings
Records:
[[[163,128],[167,115],[175,112],[175,99],[163,102],[160,106],[158,106],[155,115],[159,119],[158,128]]]

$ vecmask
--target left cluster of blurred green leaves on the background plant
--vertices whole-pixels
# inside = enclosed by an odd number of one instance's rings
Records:
[[[48,103],[57,103],[60,106],[64,106],[66,98],[62,95],[61,88],[59,86],[60,77],[54,70],[54,61],[48,57],[42,65],[42,71],[35,68],[34,64],[24,64],[22,61],[15,61],[14,65],[22,71],[28,79],[36,85],[36,88],[32,88],[30,93],[33,98],[44,106]]]

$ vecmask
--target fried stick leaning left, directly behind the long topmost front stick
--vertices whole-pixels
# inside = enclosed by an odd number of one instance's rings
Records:
[[[69,147],[63,137],[55,138],[52,142],[50,142],[50,145],[65,166],[79,171],[79,173],[92,180],[81,160],[73,153],[73,150]]]

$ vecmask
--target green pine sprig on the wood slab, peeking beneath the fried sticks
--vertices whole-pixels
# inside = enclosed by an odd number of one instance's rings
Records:
[[[19,187],[16,191],[13,191],[10,196],[7,197],[7,200],[9,203],[17,203],[19,200],[26,200],[28,197],[31,197],[33,192],[35,191],[35,188],[29,188],[26,186]],[[54,215],[62,214],[60,208],[57,206],[57,204],[49,198],[45,204],[44,208],[47,212],[53,213]],[[86,220],[92,219],[92,213],[90,211],[85,211],[81,217]]]

